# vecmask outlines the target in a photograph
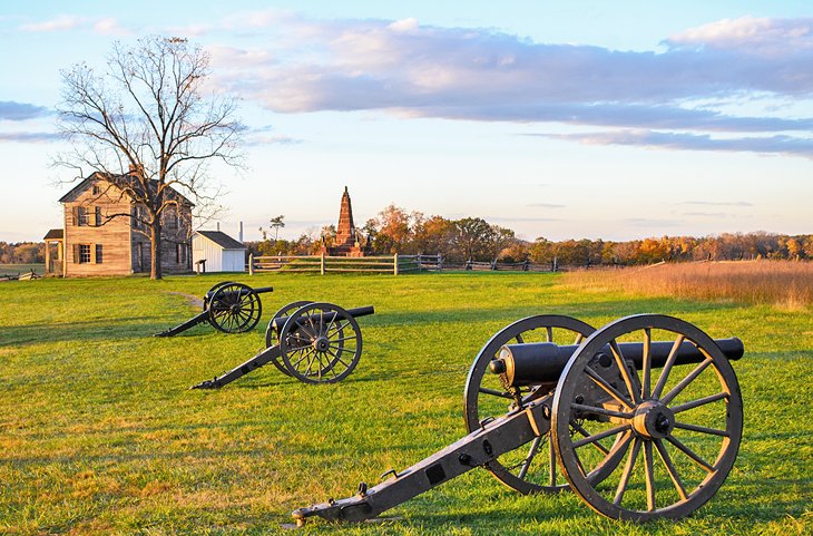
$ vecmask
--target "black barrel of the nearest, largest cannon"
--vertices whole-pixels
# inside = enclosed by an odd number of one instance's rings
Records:
[[[714,341],[728,360],[737,360],[745,353],[743,341],[737,338],[716,339]],[[652,366],[662,368],[669,357],[674,342],[652,342]],[[631,360],[635,368],[640,370],[644,361],[644,344],[640,342],[618,343],[624,359]],[[510,386],[531,386],[538,383],[550,383],[559,381],[559,376],[565,370],[570,357],[579,348],[578,344],[559,345],[552,342],[533,342],[522,344],[507,344],[500,349],[498,359],[491,361],[491,372],[505,373]],[[613,359],[609,345],[605,347],[599,354],[604,353]],[[697,347],[684,341],[677,351],[676,364],[699,363],[706,357]]]

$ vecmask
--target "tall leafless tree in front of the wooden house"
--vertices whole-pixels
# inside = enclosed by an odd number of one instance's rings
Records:
[[[86,64],[61,72],[59,125],[72,150],[57,164],[133,201],[137,209],[105,222],[129,218],[149,238],[151,279],[161,277],[161,215],[184,203],[177,194],[205,212],[218,193],[210,163],[241,166],[236,103],[205,91],[209,74],[205,51],[164,37],[116,43],[101,74]]]

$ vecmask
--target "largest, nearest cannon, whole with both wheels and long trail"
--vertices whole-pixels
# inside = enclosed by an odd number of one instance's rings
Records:
[[[370,519],[476,467],[522,494],[570,489],[613,519],[687,516],[734,465],[743,403],[729,361],[743,353],[738,339],[666,315],[599,330],[561,315],[519,320],[469,370],[466,437],[292,516]]]

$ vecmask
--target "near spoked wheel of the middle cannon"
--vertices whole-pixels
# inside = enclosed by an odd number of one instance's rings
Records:
[[[324,316],[332,316],[325,320]],[[308,303],[288,316],[280,332],[280,355],[291,376],[305,383],[335,383],[361,358],[361,329],[332,303]]]

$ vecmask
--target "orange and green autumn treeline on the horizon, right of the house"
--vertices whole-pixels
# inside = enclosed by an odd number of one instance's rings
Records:
[[[359,242],[373,254],[434,254],[452,262],[525,262],[589,266],[598,264],[652,264],[660,261],[813,259],[813,234],[724,233],[721,235],[663,236],[626,242],[539,237],[533,242],[480,217],[447,220],[424,216],[390,205],[359,230]],[[247,242],[255,255],[312,255],[330,246],[335,227],[303,233],[294,241]]]

